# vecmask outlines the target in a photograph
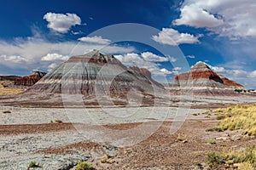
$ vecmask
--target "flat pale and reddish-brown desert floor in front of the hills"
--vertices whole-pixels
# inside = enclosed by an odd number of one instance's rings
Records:
[[[38,162],[36,169],[73,169],[79,161],[96,169],[207,169],[207,152],[256,143],[241,131],[207,132],[218,124],[210,110],[2,105],[0,169],[26,169],[31,161]],[[176,132],[172,125],[181,127]]]

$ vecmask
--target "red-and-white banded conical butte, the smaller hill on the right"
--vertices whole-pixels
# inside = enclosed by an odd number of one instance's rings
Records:
[[[181,73],[174,78],[167,89],[171,94],[195,95],[236,95],[238,89],[244,89],[241,84],[226,77],[219,76],[203,62],[198,62],[189,72]]]

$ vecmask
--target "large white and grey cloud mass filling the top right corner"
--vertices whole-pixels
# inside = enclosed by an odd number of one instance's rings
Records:
[[[253,0],[185,0],[180,8],[180,18],[173,24],[207,27],[209,31],[231,40],[256,37],[255,6]]]

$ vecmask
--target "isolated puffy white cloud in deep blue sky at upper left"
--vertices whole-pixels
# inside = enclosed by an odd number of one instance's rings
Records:
[[[66,33],[72,26],[81,25],[81,19],[77,14],[44,14],[44,20],[48,21],[47,27],[57,32]]]

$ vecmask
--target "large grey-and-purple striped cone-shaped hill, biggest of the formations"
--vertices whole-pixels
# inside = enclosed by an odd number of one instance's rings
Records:
[[[50,71],[28,92],[49,94],[123,95],[131,89],[140,93],[154,93],[154,88],[164,89],[148,79],[148,72],[125,65],[110,54],[94,50],[73,56]]]

